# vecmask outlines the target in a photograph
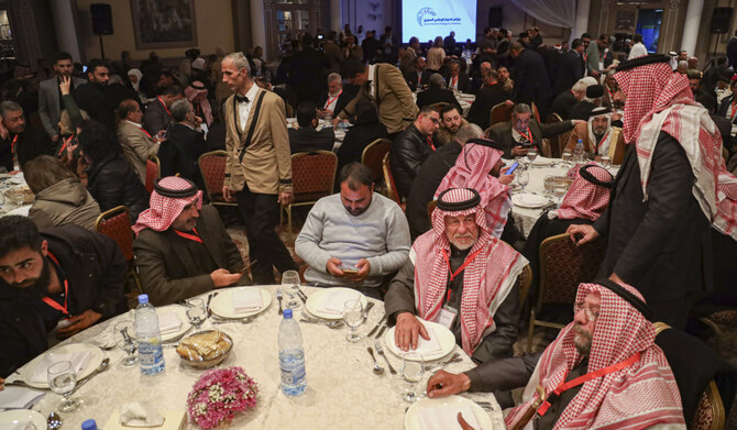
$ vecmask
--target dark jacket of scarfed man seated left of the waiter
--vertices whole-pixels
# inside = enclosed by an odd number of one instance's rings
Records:
[[[231,273],[243,268],[241,253],[212,206],[202,207],[196,229],[218,267]],[[162,232],[144,229],[133,241],[143,291],[154,306],[174,304],[215,288],[210,274],[198,268],[191,254],[176,245],[176,239],[178,236],[172,229]],[[241,282],[250,284],[248,275]]]

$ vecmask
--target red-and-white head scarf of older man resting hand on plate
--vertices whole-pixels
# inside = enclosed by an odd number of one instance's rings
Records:
[[[512,246],[488,233],[486,218],[476,206],[448,210],[444,205],[459,205],[477,200],[479,192],[468,188],[452,188],[438,198],[438,209],[432,212],[432,230],[419,236],[410,252],[415,262],[415,306],[420,318],[435,321],[448,289],[449,267],[443,251],[450,255],[450,241],[446,234],[446,216],[459,217],[474,213],[479,239],[469,251],[476,253],[463,271],[463,295],[460,322],[462,348],[469,355],[484,335],[496,330],[494,313],[517,282],[527,260]],[[461,205],[462,206],[462,205]]]

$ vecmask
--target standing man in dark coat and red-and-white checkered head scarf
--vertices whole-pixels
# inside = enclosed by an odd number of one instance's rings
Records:
[[[683,328],[689,297],[711,289],[710,224],[737,235],[737,184],[708,112],[667,60],[649,55],[618,66],[627,153],[607,212],[569,233],[579,244],[607,236],[600,275],[635,286],[658,320]]]

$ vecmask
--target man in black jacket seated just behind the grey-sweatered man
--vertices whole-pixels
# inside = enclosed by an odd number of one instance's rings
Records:
[[[409,187],[420,166],[435,151],[432,134],[440,126],[440,113],[429,106],[422,107],[415,122],[394,141],[389,152],[392,174],[399,198],[409,195]]]

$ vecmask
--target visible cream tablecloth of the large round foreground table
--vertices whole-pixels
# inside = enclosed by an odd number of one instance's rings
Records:
[[[265,289],[274,297],[276,286],[256,286]],[[319,288],[301,287],[309,297]],[[219,289],[222,291],[222,289]],[[202,295],[200,297],[207,297]],[[285,304],[287,302],[285,294]],[[367,298],[367,300],[373,300]],[[373,300],[376,306],[371,310],[369,319],[359,328],[359,333],[373,329],[384,315],[384,306]],[[178,306],[178,305],[172,305]],[[257,384],[257,406],[255,409],[240,414],[230,426],[233,429],[277,429],[295,427],[301,429],[402,429],[404,428],[405,409],[409,404],[402,400],[400,390],[404,381],[399,375],[391,375],[386,362],[376,356],[385,367],[383,375],[373,374],[373,361],[366,352],[373,348],[374,339],[364,338],[356,343],[348,343],[348,328],[330,329],[322,324],[299,323],[305,349],[307,368],[307,390],[298,397],[287,397],[279,388],[279,366],[277,333],[283,317],[277,313],[278,305],[273,299],[268,308],[263,310],[250,323],[228,322],[211,326],[208,320],[202,329],[215,327],[233,339],[233,350],[223,363],[224,366],[241,366]],[[304,306],[300,308],[304,309]],[[111,320],[94,326],[74,335],[59,345],[70,343],[92,343],[109,324],[114,324],[132,312],[118,316]],[[298,320],[301,310],[295,312]],[[387,330],[388,331],[388,330]],[[383,342],[385,353],[393,366],[400,372],[402,359],[389,352]],[[453,349],[463,357],[463,362],[451,363],[446,370],[460,373],[474,367],[471,360],[455,345]],[[98,426],[105,428],[113,411],[131,401],[150,403],[158,410],[185,410],[187,395],[199,375],[205,371],[195,370],[180,363],[175,349],[164,350],[166,370],[156,376],[142,376],[136,366],[124,368],[120,365],[124,353],[119,349],[103,351],[110,359],[110,367],[102,372],[73,395],[84,400],[82,406],[74,412],[61,414],[64,428],[79,429],[81,422],[94,418]],[[430,362],[432,363],[432,362]],[[436,362],[437,363],[437,362]],[[97,365],[94,364],[94,365]],[[20,370],[28,371],[26,366]],[[419,386],[427,384],[431,372],[426,372]],[[18,379],[13,374],[9,381]],[[487,411],[494,429],[504,429],[504,418],[494,395],[491,393],[464,394],[474,400],[490,401],[492,410]],[[33,409],[47,417],[61,401],[56,394],[48,393]],[[197,429],[187,419],[186,429]]]

